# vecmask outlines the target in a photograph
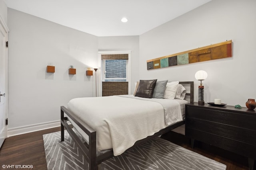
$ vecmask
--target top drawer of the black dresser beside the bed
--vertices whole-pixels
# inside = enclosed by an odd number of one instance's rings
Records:
[[[186,106],[186,119],[190,117],[256,131],[255,115]]]

